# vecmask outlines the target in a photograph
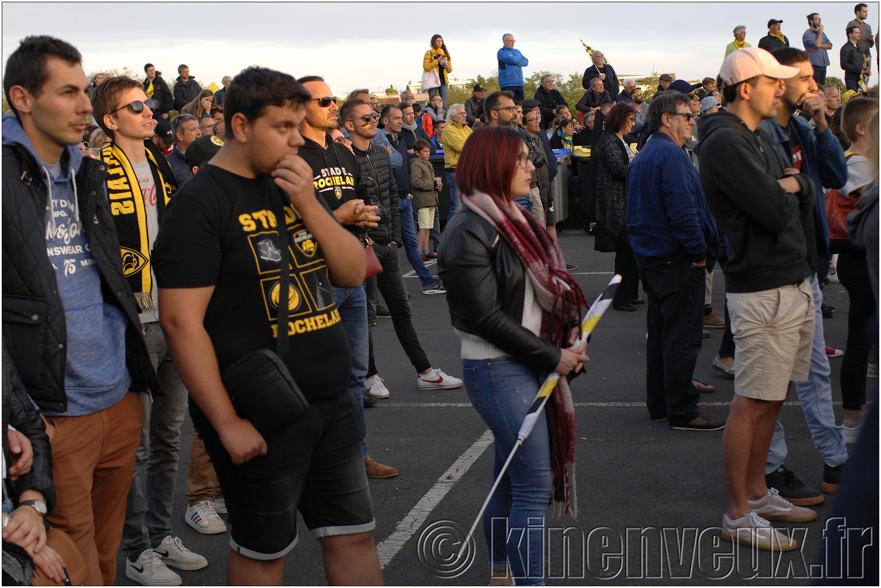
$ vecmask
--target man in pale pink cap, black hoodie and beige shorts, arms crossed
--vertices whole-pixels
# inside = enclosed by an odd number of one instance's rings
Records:
[[[816,512],[767,489],[765,461],[790,380],[804,381],[811,361],[814,308],[805,250],[814,239],[813,181],[787,168],[759,123],[774,118],[781,79],[796,68],[760,48],[743,48],[722,63],[718,85],[728,111],[700,121],[700,183],[721,232],[731,330],[735,397],[722,438],[728,512],[722,538],[788,551],[795,540],[766,518],[808,521]],[[764,517],[764,518],[763,518]]]

